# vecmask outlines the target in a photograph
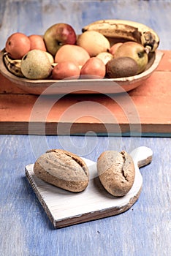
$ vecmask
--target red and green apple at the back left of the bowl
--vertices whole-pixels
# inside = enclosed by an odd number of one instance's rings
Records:
[[[75,45],[75,30],[67,23],[56,23],[45,31],[43,36],[47,51],[53,56],[62,45]]]

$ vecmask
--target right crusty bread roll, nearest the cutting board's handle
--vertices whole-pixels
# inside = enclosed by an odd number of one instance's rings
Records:
[[[126,151],[104,151],[97,160],[97,172],[103,187],[115,197],[126,195],[134,183],[134,162]]]

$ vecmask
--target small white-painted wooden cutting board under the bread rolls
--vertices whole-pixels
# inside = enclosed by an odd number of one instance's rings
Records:
[[[102,187],[97,176],[96,162],[85,158],[90,181],[86,190],[80,193],[67,192],[40,180],[34,175],[34,164],[26,166],[26,177],[53,226],[66,227],[121,214],[131,208],[140,197],[142,189],[139,167],[148,165],[152,155],[151,148],[145,146],[131,152],[136,174],[132,189],[123,197],[113,197]]]

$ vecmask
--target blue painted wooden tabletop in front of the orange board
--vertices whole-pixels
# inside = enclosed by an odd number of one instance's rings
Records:
[[[25,166],[49,148],[96,161],[104,150],[137,146],[151,148],[153,161],[140,170],[142,192],[134,206],[114,217],[54,230],[25,178]],[[170,138],[0,135],[1,255],[169,255],[170,152]]]

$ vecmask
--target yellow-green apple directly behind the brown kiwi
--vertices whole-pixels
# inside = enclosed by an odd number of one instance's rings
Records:
[[[138,64],[137,74],[143,72],[148,64],[148,53],[144,46],[138,42],[123,42],[115,51],[114,57],[130,57],[134,59]]]

